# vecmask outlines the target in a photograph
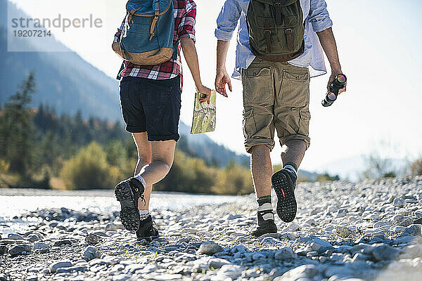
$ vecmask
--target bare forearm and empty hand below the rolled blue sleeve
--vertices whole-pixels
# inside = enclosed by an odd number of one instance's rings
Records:
[[[217,75],[215,77],[215,89],[226,98],[226,84],[231,89],[231,81],[226,71],[226,57],[229,50],[230,41],[217,40]]]

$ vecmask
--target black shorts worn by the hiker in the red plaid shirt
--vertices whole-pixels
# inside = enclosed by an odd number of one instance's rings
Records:
[[[154,80],[123,77],[120,105],[130,133],[148,133],[148,141],[178,141],[180,77]]]

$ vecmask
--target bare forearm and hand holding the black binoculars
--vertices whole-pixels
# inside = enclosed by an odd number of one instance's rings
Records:
[[[330,85],[331,83],[333,83],[335,77],[338,74],[343,73],[341,71],[340,60],[338,59],[337,44],[335,44],[335,38],[334,38],[333,30],[331,27],[321,32],[316,32],[316,34],[318,34],[319,41],[321,42],[321,46],[324,49],[324,52],[326,53],[328,61],[330,62],[330,65],[331,65],[331,76],[330,76],[330,79],[328,80],[328,85],[327,85],[327,89],[329,90]],[[346,85],[344,86],[343,89],[340,89],[338,93],[343,93],[345,91],[346,91]]]

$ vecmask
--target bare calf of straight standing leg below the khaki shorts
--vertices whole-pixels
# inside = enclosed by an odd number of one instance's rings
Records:
[[[269,148],[265,145],[255,145],[251,148],[250,169],[257,198],[271,195],[271,176],[273,169]]]

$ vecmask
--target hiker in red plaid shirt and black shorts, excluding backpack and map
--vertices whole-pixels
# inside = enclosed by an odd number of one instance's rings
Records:
[[[120,219],[123,225],[129,230],[137,228],[136,235],[139,239],[158,237],[158,230],[154,227],[148,209],[149,199],[153,184],[161,181],[170,171],[174,148],[179,140],[182,84],[180,49],[184,52],[197,91],[204,95],[201,102],[209,101],[211,94],[211,90],[203,86],[200,79],[195,48],[196,4],[193,0],[172,1],[173,44],[179,42],[177,58],[160,65],[134,65],[124,60],[119,72],[119,77],[122,77],[120,81],[122,115],[127,131],[134,137],[139,160],[135,176],[119,183],[115,192],[117,200],[122,204]],[[113,50],[117,54],[120,52],[119,42],[123,27],[124,20],[113,41]],[[122,193],[127,190],[130,198],[121,200],[124,197]],[[120,192],[120,198],[117,192]],[[128,208],[124,207],[124,204],[129,204],[129,207],[137,205],[139,215],[137,209],[132,208],[129,211],[124,209]]]

